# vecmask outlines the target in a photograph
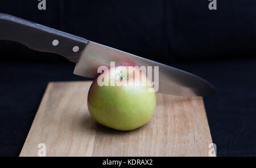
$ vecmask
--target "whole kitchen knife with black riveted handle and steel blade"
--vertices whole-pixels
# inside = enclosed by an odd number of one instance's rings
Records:
[[[63,55],[76,63],[74,74],[80,76],[95,78],[97,68],[109,67],[112,61],[117,65],[158,66],[159,93],[177,96],[216,93],[208,81],[189,72],[7,14],[0,14],[0,40],[15,41],[33,50]]]

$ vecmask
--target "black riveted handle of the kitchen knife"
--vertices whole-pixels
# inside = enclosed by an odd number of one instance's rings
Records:
[[[15,16],[0,13],[0,40],[19,42],[28,48],[63,55],[78,62],[88,41]]]

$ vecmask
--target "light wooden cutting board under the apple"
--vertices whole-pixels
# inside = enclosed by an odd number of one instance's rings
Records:
[[[156,94],[154,116],[133,131],[104,127],[90,116],[92,81],[51,82],[20,156],[208,156],[212,143],[201,97]]]

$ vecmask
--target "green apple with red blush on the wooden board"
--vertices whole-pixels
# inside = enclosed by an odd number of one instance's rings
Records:
[[[125,67],[125,66],[118,66]],[[127,66],[126,66],[127,67]],[[103,72],[104,80],[115,79],[115,74],[109,71]],[[132,72],[139,71],[138,68],[131,68]],[[127,70],[128,71],[128,70]],[[130,71],[128,72],[130,73]],[[147,76],[139,71],[141,77],[127,77],[127,79],[115,80],[115,84],[119,81],[127,80],[130,82],[140,82],[147,79]],[[98,76],[98,77],[99,77]],[[101,76],[101,77],[103,77]],[[109,76],[109,77],[106,77]],[[148,92],[152,89],[147,81],[145,85],[122,85],[122,86],[99,86],[98,77],[93,81],[88,93],[88,110],[92,117],[98,123],[114,128],[115,130],[129,131],[146,124],[152,117],[156,106],[155,92]],[[144,80],[145,81],[145,80]]]

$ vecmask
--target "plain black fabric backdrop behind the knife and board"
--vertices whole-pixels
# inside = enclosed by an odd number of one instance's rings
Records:
[[[220,94],[204,98],[218,156],[256,156],[256,2],[0,0],[0,12],[192,72]],[[1,32],[0,32],[1,33]],[[39,39],[40,40],[40,39]],[[0,156],[18,156],[49,81],[86,80],[51,53],[0,41]]]

